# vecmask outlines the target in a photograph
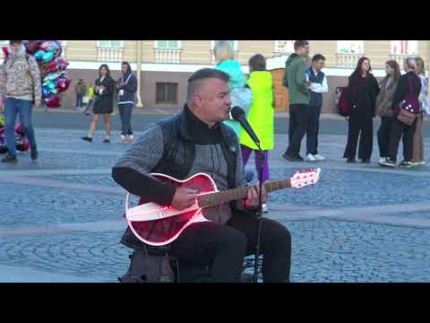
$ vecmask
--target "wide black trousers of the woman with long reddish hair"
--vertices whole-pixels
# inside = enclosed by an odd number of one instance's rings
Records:
[[[361,133],[361,135],[360,135]],[[358,135],[360,144],[358,146],[358,158],[370,159],[374,147],[374,124],[372,116],[355,116],[348,118],[348,144],[345,148],[343,158],[355,159],[357,154]]]

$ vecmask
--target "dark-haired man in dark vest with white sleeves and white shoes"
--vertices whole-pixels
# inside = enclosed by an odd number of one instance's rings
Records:
[[[309,123],[306,136],[307,162],[322,162],[325,157],[318,153],[318,132],[320,129],[320,114],[323,106],[323,93],[329,92],[327,77],[321,71],[324,67],[325,57],[316,54],[312,57],[312,65],[306,70],[306,79],[309,82],[311,100],[309,103]]]

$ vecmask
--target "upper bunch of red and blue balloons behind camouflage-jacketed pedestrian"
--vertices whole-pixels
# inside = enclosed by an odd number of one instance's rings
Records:
[[[69,63],[61,57],[63,48],[58,40],[23,40],[28,54],[33,55],[39,64],[42,76],[42,100],[48,108],[61,106],[62,92],[70,86],[70,78],[65,69]],[[7,48],[3,48],[7,57]]]

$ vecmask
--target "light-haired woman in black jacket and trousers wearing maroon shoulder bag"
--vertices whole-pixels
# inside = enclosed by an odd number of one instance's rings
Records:
[[[398,109],[400,102],[406,98],[410,93],[418,100],[419,93],[421,92],[421,79],[417,76],[417,62],[415,58],[409,57],[405,59],[403,68],[406,74],[401,75],[399,85],[397,86],[396,92],[394,92],[394,98],[392,99],[391,109]],[[400,166],[410,168],[413,166],[412,153],[414,144],[414,134],[417,127],[417,119],[415,122],[408,126],[401,123],[397,118],[394,118],[391,126],[390,143],[389,143],[389,158],[386,162],[380,162],[381,166],[395,167],[397,153],[399,150],[400,138],[403,136],[403,162],[400,162]]]

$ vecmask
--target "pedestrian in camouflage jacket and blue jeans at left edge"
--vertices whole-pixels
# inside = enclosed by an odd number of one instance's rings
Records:
[[[31,160],[38,159],[38,148],[31,112],[33,104],[40,106],[42,84],[36,58],[27,54],[22,40],[9,41],[9,57],[0,66],[0,106],[4,103],[5,135],[8,153],[2,162],[18,162],[16,157],[15,121],[16,115],[30,142]]]

